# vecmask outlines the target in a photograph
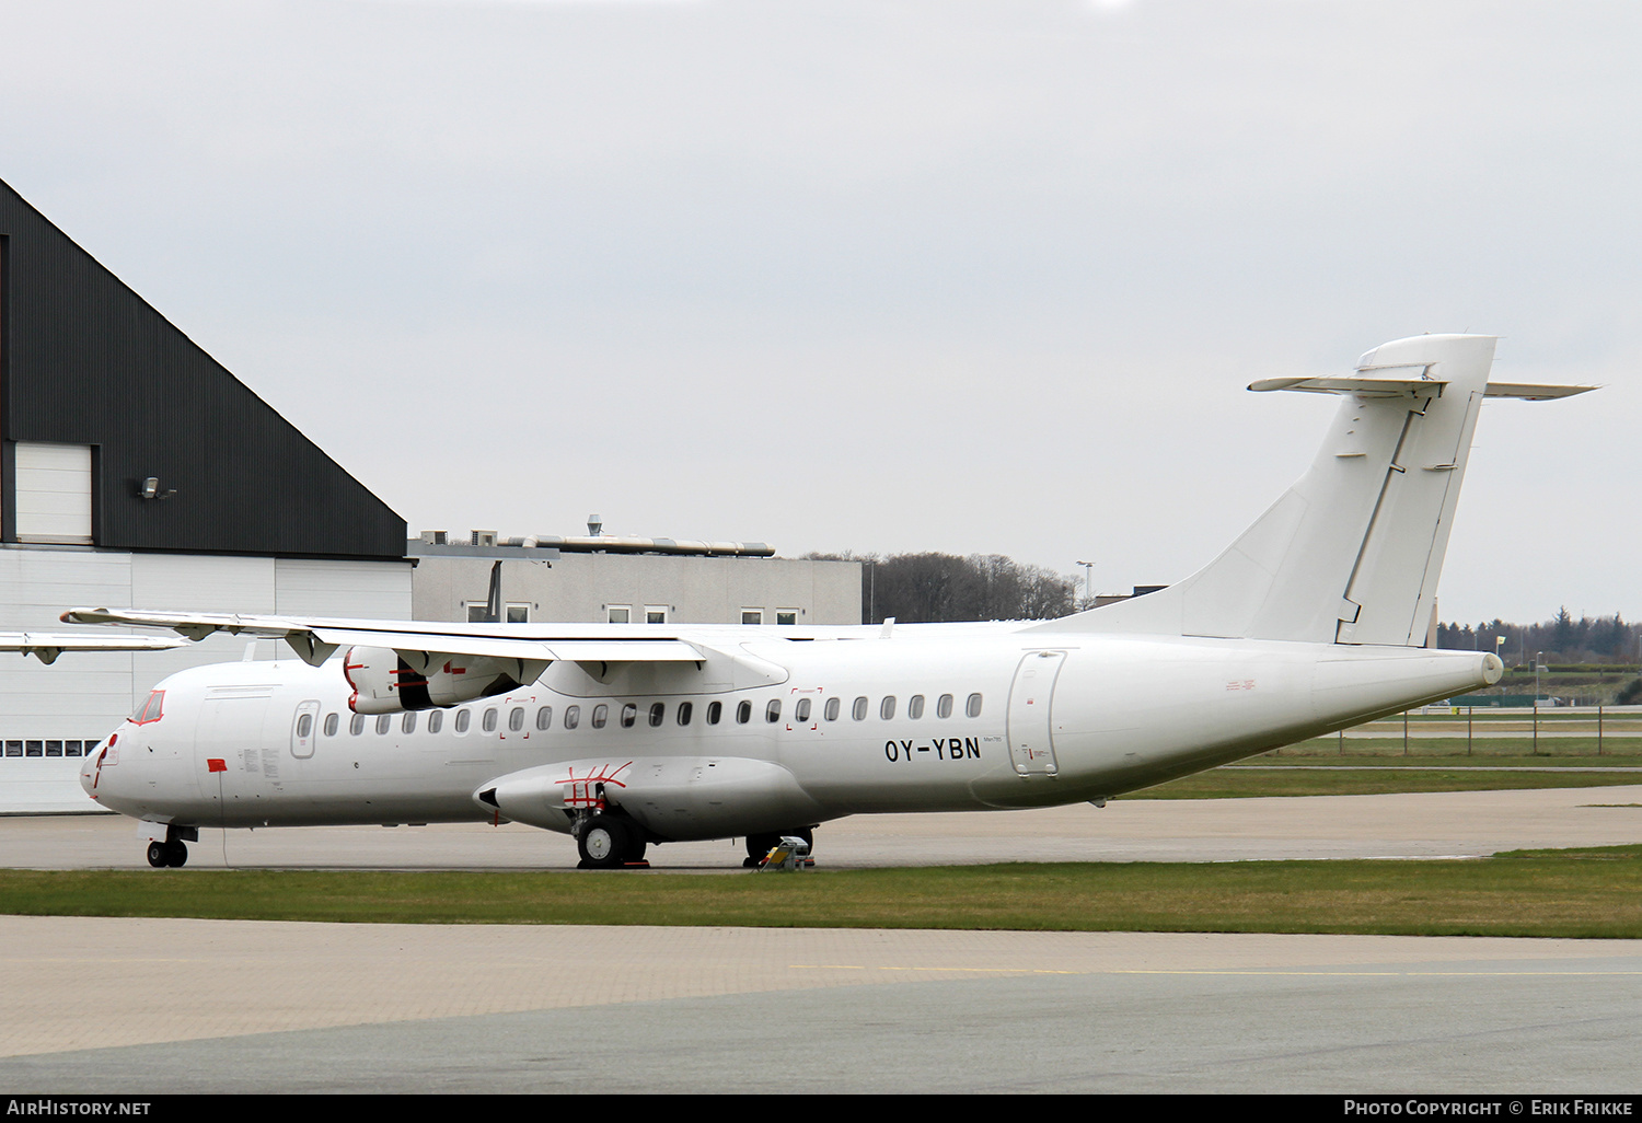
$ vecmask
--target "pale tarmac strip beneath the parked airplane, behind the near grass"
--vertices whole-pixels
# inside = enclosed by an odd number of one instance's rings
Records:
[[[870,814],[816,831],[828,869],[979,862],[1481,857],[1642,844],[1642,785],[1261,800],[1115,800],[1039,811]],[[0,867],[146,869],[123,816],[0,818]],[[657,870],[737,869],[741,841],[650,847]],[[186,869],[575,869],[568,836],[504,824],[200,831]]]

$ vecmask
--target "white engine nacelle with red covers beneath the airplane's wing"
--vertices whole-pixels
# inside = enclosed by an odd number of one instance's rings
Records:
[[[353,686],[348,708],[356,714],[460,706],[519,690],[545,670],[547,660],[396,652],[389,647],[350,647],[342,657],[342,673]]]

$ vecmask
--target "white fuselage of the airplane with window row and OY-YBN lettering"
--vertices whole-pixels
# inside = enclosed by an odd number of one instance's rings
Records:
[[[555,663],[504,694],[381,716],[350,713],[340,658],[200,667],[161,683],[82,785],[174,826],[570,832],[599,806],[654,842],[734,837],[1103,800],[1499,676],[1473,652],[1008,624],[703,632],[731,652],[721,673],[708,660],[601,681],[599,667]]]

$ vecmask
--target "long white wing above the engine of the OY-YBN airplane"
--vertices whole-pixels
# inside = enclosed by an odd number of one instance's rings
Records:
[[[202,640],[217,632],[282,639],[305,663],[319,667],[342,647],[384,647],[401,653],[473,655],[524,663],[699,663],[706,653],[686,640],[642,634],[617,635],[609,626],[594,635],[553,626],[443,624],[437,621],[328,621],[235,612],[148,612],[138,609],[71,609],[64,624],[118,624],[169,627],[177,635]],[[176,647],[176,640],[153,640]],[[5,650],[5,649],[0,649]],[[107,650],[107,649],[105,649]]]

